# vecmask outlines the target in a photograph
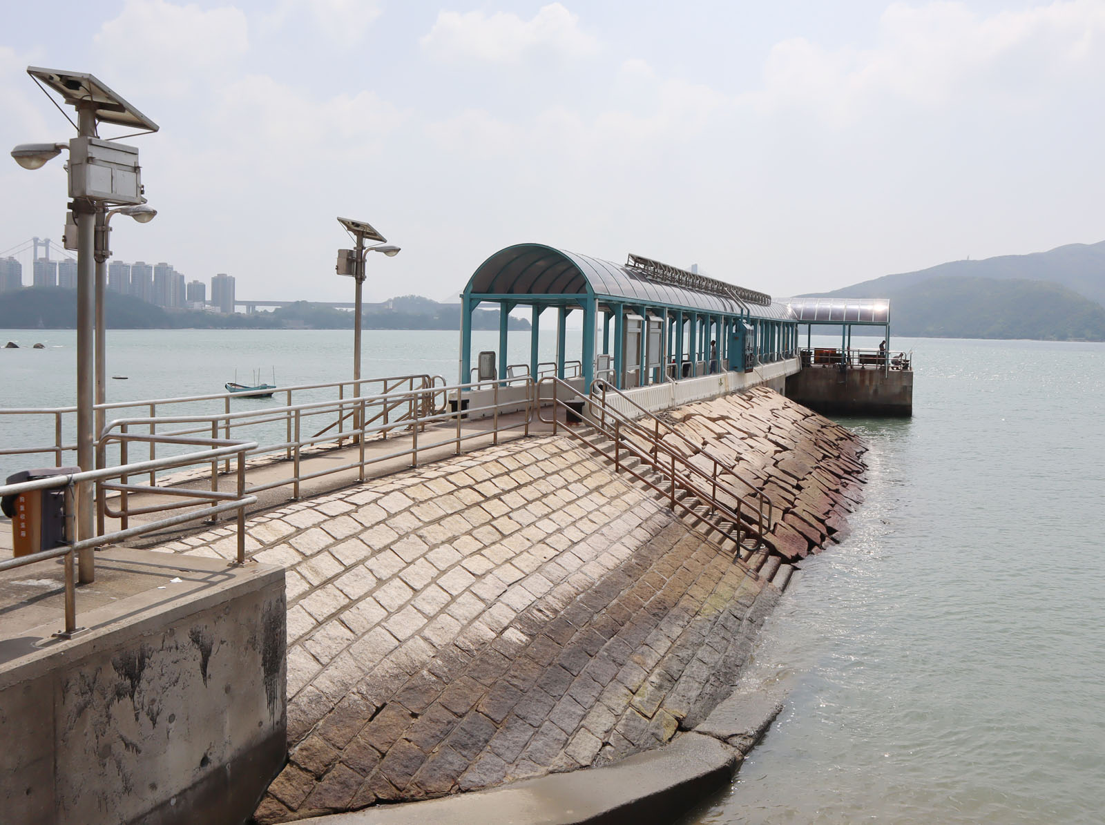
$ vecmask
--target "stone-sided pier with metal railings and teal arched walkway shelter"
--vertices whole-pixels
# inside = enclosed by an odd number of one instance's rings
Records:
[[[556,307],[554,364],[507,363],[505,331],[473,364],[462,330],[453,383],[103,405],[103,468],[35,483],[96,486],[96,583],[66,577],[73,546],[0,570],[24,616],[0,696],[40,754],[2,758],[13,821],[442,804],[419,801],[707,740],[686,781],[724,781],[755,737],[711,713],[801,560],[848,533],[863,445],[778,391],[802,370],[785,305],[691,275],[509,247],[463,307]],[[62,432],[30,447],[61,465]]]

